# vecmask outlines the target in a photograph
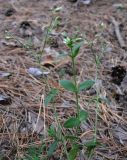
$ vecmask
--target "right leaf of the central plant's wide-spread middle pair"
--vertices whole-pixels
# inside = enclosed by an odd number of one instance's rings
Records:
[[[79,85],[79,91],[81,91],[81,90],[83,90],[83,89],[89,89],[90,87],[92,87],[93,85],[94,85],[94,81],[92,81],[92,80],[86,80],[86,81],[84,81],[84,82],[82,82],[82,83],[80,83],[80,85]]]

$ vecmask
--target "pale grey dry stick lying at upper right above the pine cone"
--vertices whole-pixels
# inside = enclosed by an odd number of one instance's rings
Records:
[[[113,25],[114,25],[116,37],[117,37],[117,39],[118,39],[118,42],[119,42],[120,46],[121,46],[122,48],[125,48],[126,45],[125,45],[125,42],[124,42],[124,40],[123,40],[123,37],[121,36],[121,33],[120,33],[119,23],[115,20],[114,17],[111,17],[111,21],[112,21],[112,23],[113,23]]]

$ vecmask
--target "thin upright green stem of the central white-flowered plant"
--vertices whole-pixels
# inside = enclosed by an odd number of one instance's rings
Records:
[[[76,87],[76,91],[75,91],[75,97],[76,97],[76,106],[77,106],[77,115],[79,118],[79,98],[78,98],[78,84],[77,84],[77,77],[76,77],[76,67],[75,67],[75,58],[72,58],[72,72],[73,72],[73,81],[74,81],[74,85]]]

